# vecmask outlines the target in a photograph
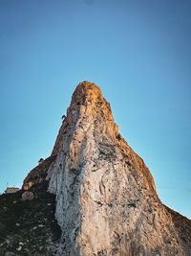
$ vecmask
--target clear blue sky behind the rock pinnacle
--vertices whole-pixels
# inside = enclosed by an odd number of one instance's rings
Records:
[[[0,192],[50,155],[84,80],[191,218],[190,0],[0,0]]]

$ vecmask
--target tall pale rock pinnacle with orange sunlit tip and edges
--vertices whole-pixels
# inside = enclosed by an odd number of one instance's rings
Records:
[[[55,155],[47,179],[62,229],[57,255],[191,255],[190,239],[181,239],[176,218],[160,202],[143,160],[118,133],[96,84],[76,87]],[[181,218],[189,233],[190,221]]]

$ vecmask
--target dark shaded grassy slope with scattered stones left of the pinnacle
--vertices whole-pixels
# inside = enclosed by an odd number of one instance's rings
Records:
[[[0,255],[54,254],[61,232],[47,187],[47,181],[33,185],[32,200],[22,199],[23,190],[0,196]]]

